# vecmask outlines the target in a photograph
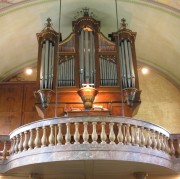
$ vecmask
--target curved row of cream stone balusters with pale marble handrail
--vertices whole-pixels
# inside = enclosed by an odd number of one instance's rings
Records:
[[[180,158],[180,137],[165,129],[132,118],[121,117],[62,117],[33,122],[14,130],[10,137],[0,137],[2,160],[10,160],[38,148],[52,146],[108,145],[135,146],[162,152],[170,158]],[[124,149],[123,149],[124,150]],[[168,157],[168,160],[169,160]]]

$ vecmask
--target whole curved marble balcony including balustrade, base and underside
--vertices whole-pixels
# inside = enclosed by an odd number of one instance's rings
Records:
[[[180,172],[180,136],[133,118],[49,118],[0,139],[5,175],[116,179],[137,171]]]

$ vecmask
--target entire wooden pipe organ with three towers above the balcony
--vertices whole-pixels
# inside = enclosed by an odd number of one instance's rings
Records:
[[[61,40],[47,19],[37,34],[36,105],[45,117],[56,115],[133,116],[140,105],[136,33],[121,20],[120,30],[106,38],[100,22],[84,10],[72,22],[73,32]]]

